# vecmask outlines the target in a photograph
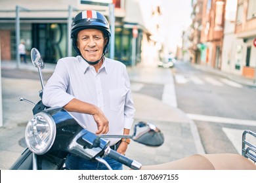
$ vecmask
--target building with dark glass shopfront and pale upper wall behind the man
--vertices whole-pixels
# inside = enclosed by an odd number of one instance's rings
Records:
[[[131,65],[132,52],[136,52],[135,63],[138,63],[141,60],[142,40],[147,40],[150,35],[146,26],[139,21],[141,18],[131,20],[127,17],[129,10],[126,8],[138,1],[114,0],[111,2],[115,5],[114,59]],[[0,1],[1,60],[16,59],[17,15],[20,22],[20,41],[26,42],[28,57],[30,56],[29,51],[33,47],[37,48],[45,62],[49,63],[56,63],[62,57],[75,56],[74,49],[70,53],[70,24],[68,20],[74,18],[75,14],[82,10],[98,10],[111,23],[110,7],[89,1],[45,0],[36,3],[30,3],[28,0]],[[133,44],[135,26],[137,36],[135,44]],[[133,49],[134,47],[136,48]]]

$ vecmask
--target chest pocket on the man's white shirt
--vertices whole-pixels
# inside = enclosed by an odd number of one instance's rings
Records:
[[[114,89],[110,90],[110,109],[111,110],[121,110],[125,103],[125,89]]]

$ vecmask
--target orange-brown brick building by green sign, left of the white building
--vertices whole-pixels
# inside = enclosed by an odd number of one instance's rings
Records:
[[[202,63],[221,69],[224,30],[224,0],[203,1],[201,54]]]

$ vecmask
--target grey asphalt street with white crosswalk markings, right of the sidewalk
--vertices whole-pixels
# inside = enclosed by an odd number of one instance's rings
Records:
[[[177,62],[178,107],[194,120],[205,152],[241,153],[242,131],[256,131],[256,88]]]

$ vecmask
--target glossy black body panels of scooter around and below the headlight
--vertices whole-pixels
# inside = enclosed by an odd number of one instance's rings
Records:
[[[49,114],[56,124],[56,137],[51,149],[43,155],[37,156],[37,169],[39,170],[60,170],[63,169],[64,162],[70,150],[70,144],[77,142],[83,148],[94,148],[93,142],[96,135],[87,131],[70,115],[64,108],[48,108],[43,112]],[[85,138],[86,137],[86,138]],[[84,141],[84,139],[87,139]],[[96,154],[103,154],[102,150],[108,144],[100,139],[100,146],[95,148]],[[29,148],[22,152],[21,156],[12,165],[11,170],[32,170],[33,153]]]

